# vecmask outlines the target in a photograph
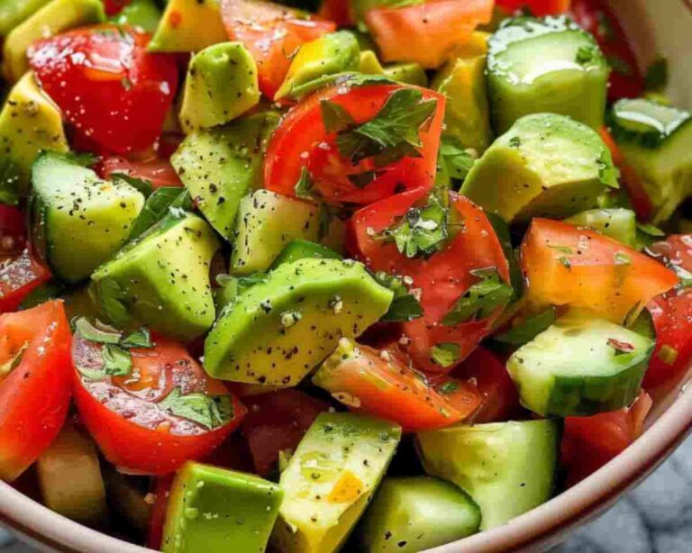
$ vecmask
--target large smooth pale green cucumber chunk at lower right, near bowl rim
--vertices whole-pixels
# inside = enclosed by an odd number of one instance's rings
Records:
[[[425,472],[459,485],[500,526],[551,498],[560,448],[554,420],[455,425],[416,436]]]

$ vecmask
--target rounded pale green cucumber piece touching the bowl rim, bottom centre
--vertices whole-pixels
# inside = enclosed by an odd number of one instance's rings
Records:
[[[430,476],[388,477],[358,530],[362,551],[415,553],[478,531],[480,509],[456,485]]]

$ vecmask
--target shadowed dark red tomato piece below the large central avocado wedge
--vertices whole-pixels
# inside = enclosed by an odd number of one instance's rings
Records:
[[[329,403],[299,390],[279,390],[245,398],[250,411],[242,424],[259,476],[275,467],[278,452],[296,449],[315,417],[327,411]]]

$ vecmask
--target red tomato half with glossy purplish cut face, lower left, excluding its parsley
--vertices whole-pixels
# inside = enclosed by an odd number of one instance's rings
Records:
[[[203,369],[187,355],[186,349],[175,342],[159,339],[153,350],[132,349],[133,367],[141,373],[136,382],[128,385],[128,381],[132,380],[129,376],[107,377],[107,382],[98,381],[96,385],[89,386],[77,365],[88,363],[90,356],[94,356],[95,348],[97,345],[92,342],[75,337],[72,349],[75,400],[87,430],[105,458],[116,467],[133,474],[168,475],[187,460],[205,458],[240,426],[247,412],[240,400],[231,395],[234,417],[213,431],[174,434],[169,431],[170,417],[156,429],[147,428],[133,422],[134,419],[145,404],[158,403],[165,398],[175,382],[191,382],[196,388],[202,385],[211,394],[223,394],[225,388],[218,381],[207,378]],[[178,367],[183,367],[179,373]],[[115,398],[118,403],[125,404],[130,412],[129,418],[102,403],[95,394],[104,398],[105,402]]]

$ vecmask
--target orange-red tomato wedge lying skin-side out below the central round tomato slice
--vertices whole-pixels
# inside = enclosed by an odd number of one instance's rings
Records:
[[[447,378],[433,386],[398,355],[396,345],[378,351],[354,344],[338,365],[331,359],[328,363],[314,384],[353,411],[396,422],[405,432],[450,426],[468,418],[481,403],[476,386],[468,382]]]

